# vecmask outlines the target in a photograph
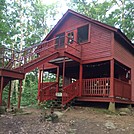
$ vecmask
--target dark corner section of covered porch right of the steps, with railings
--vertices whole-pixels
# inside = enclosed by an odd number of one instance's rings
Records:
[[[83,65],[81,96],[131,101],[131,69],[116,60]]]

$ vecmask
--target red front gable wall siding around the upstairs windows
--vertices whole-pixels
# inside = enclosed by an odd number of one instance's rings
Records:
[[[53,38],[56,37],[57,34],[63,32],[69,32],[71,30],[74,31],[75,40],[77,41],[77,28],[83,26],[85,24],[89,24],[89,42],[85,44],[71,44],[74,48],[81,50],[82,52],[82,61],[84,63],[89,63],[90,60],[93,59],[101,59],[112,56],[112,47],[111,40],[112,34],[111,31],[95,25],[93,23],[89,23],[87,20],[81,19],[77,16],[70,15],[58,28],[58,30],[53,34]],[[54,43],[54,42],[53,42]],[[67,51],[71,52],[71,54],[75,56],[80,56],[80,53],[73,48],[68,47]],[[55,51],[54,49],[51,51]],[[48,55],[49,51],[43,52],[42,54]]]

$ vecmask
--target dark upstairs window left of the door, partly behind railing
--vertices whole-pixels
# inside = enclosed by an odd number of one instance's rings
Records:
[[[58,34],[56,36],[56,48],[63,47],[65,43],[65,33]]]

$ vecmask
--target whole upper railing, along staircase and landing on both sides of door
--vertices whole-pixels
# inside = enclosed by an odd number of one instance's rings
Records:
[[[67,40],[67,37],[60,37],[65,38]],[[14,69],[17,67],[20,67],[26,63],[31,62],[32,60],[35,60],[38,58],[38,54],[40,53],[40,56],[47,56],[49,54],[52,54],[53,52],[57,51],[59,47],[57,46],[56,40],[59,39],[58,37],[53,38],[49,41],[44,41],[39,44],[32,45],[28,48],[25,48],[21,51],[16,51],[14,49],[1,47],[0,48],[0,67],[2,68],[8,68],[8,69]],[[74,42],[74,44],[77,44],[77,42]],[[69,46],[69,47],[66,47]],[[75,46],[72,46],[64,42],[64,50],[70,52],[76,53],[76,56],[78,55],[80,57],[80,46],[77,45],[77,48]]]

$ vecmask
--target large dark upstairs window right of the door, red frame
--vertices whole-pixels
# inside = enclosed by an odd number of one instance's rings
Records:
[[[83,43],[88,41],[88,31],[89,31],[89,25],[85,25],[78,28],[78,43]]]

